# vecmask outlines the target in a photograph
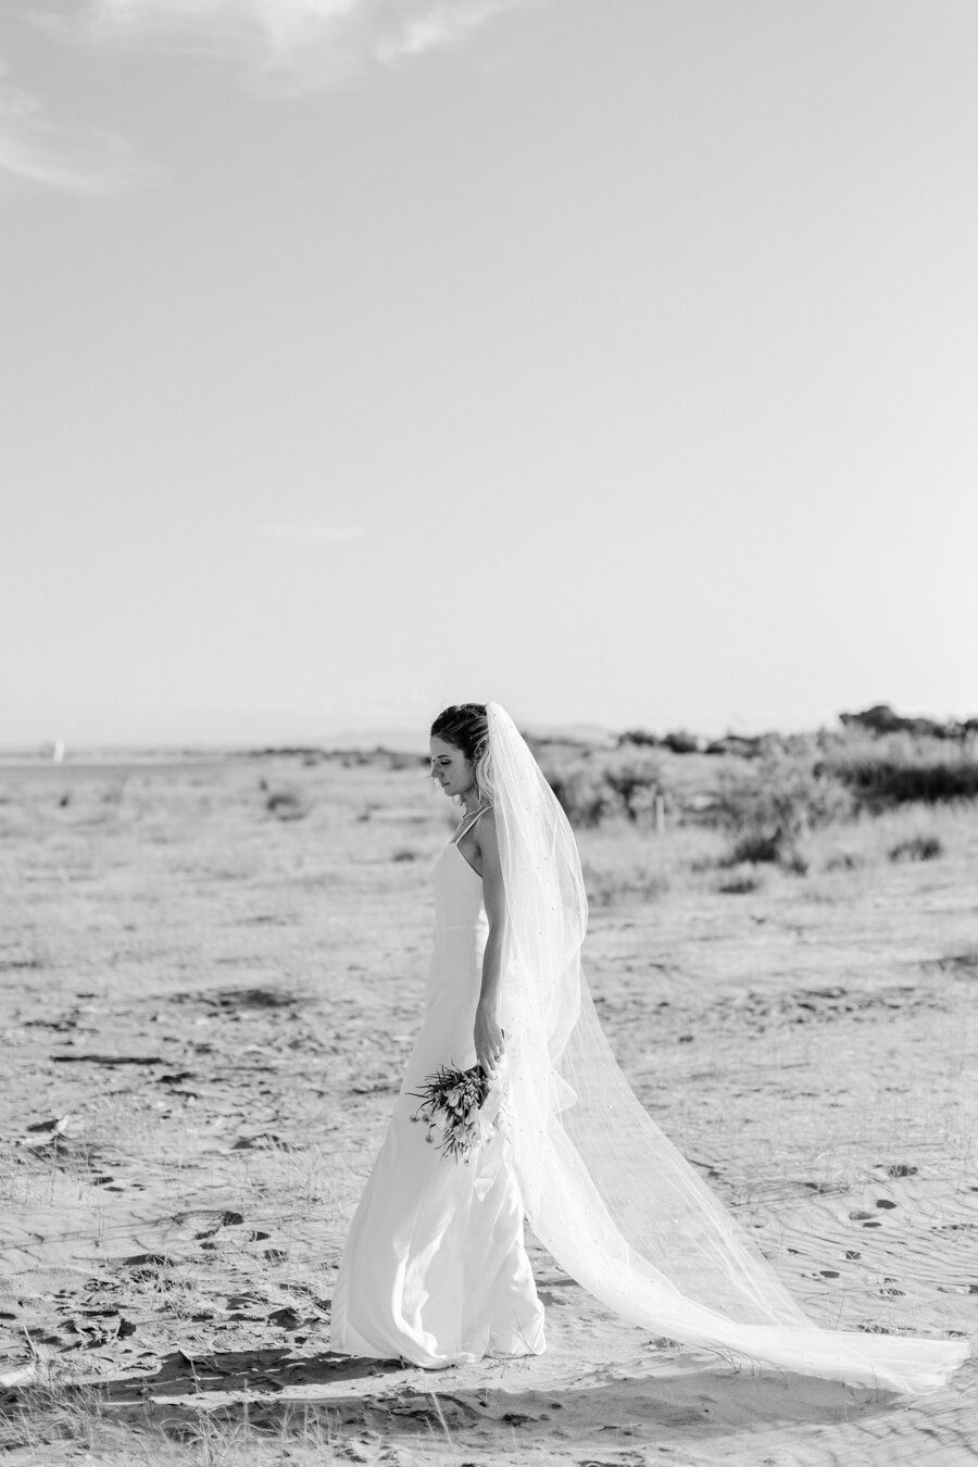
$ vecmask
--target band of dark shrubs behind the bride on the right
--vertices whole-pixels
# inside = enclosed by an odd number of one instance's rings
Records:
[[[661,800],[670,829],[699,824],[727,835],[720,864],[767,863],[798,874],[809,866],[814,832],[845,827],[859,813],[978,798],[974,719],[944,726],[900,719],[881,704],[840,722],[837,731],[726,735],[710,744],[685,731],[629,729],[616,748],[543,745],[538,757],[576,827],[651,829]],[[924,832],[889,854],[903,861],[943,852]],[[836,851],[827,863],[855,870],[862,857]]]

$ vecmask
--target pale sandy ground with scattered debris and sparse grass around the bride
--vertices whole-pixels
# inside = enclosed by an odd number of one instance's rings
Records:
[[[887,861],[913,822],[944,855]],[[6,1460],[978,1458],[975,1361],[918,1402],[730,1372],[538,1247],[540,1360],[328,1354],[447,830],[383,760],[0,770]],[[975,811],[831,832],[808,877],[740,890],[710,832],[581,845],[588,973],[660,1125],[818,1322],[974,1347]]]

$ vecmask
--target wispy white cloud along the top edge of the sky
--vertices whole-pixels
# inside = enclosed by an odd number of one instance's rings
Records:
[[[365,66],[397,66],[460,44],[497,15],[538,0],[73,0],[35,16],[97,47],[155,48],[238,63],[257,81],[305,91]]]

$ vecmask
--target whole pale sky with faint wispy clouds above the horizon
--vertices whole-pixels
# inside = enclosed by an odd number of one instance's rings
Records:
[[[3,0],[0,744],[978,711],[974,0]]]

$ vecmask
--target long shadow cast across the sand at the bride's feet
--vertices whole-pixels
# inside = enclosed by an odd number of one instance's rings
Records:
[[[720,1461],[724,1444],[730,1449],[739,1439],[743,1449],[745,1436],[869,1427],[871,1436],[891,1439],[890,1461],[911,1460],[896,1441],[900,1427],[887,1424],[887,1417],[902,1416],[905,1402],[890,1395],[798,1376],[723,1373],[689,1361],[633,1376],[597,1372],[562,1385],[534,1380],[532,1369],[522,1378],[507,1370],[474,1380],[469,1370],[459,1379],[456,1370],[421,1373],[400,1361],[298,1357],[287,1348],[176,1351],[152,1375],[94,1388],[106,1422],[145,1423],[169,1436],[186,1435],[205,1416],[260,1433],[287,1435],[299,1426],[308,1432],[318,1422],[333,1441],[369,1433],[387,1444],[424,1438],[428,1448],[437,1441],[477,1451],[504,1445],[507,1454],[598,1444],[619,1461],[628,1460],[629,1448],[635,1452],[651,1442],[686,1448],[699,1442],[713,1446],[704,1460]]]

